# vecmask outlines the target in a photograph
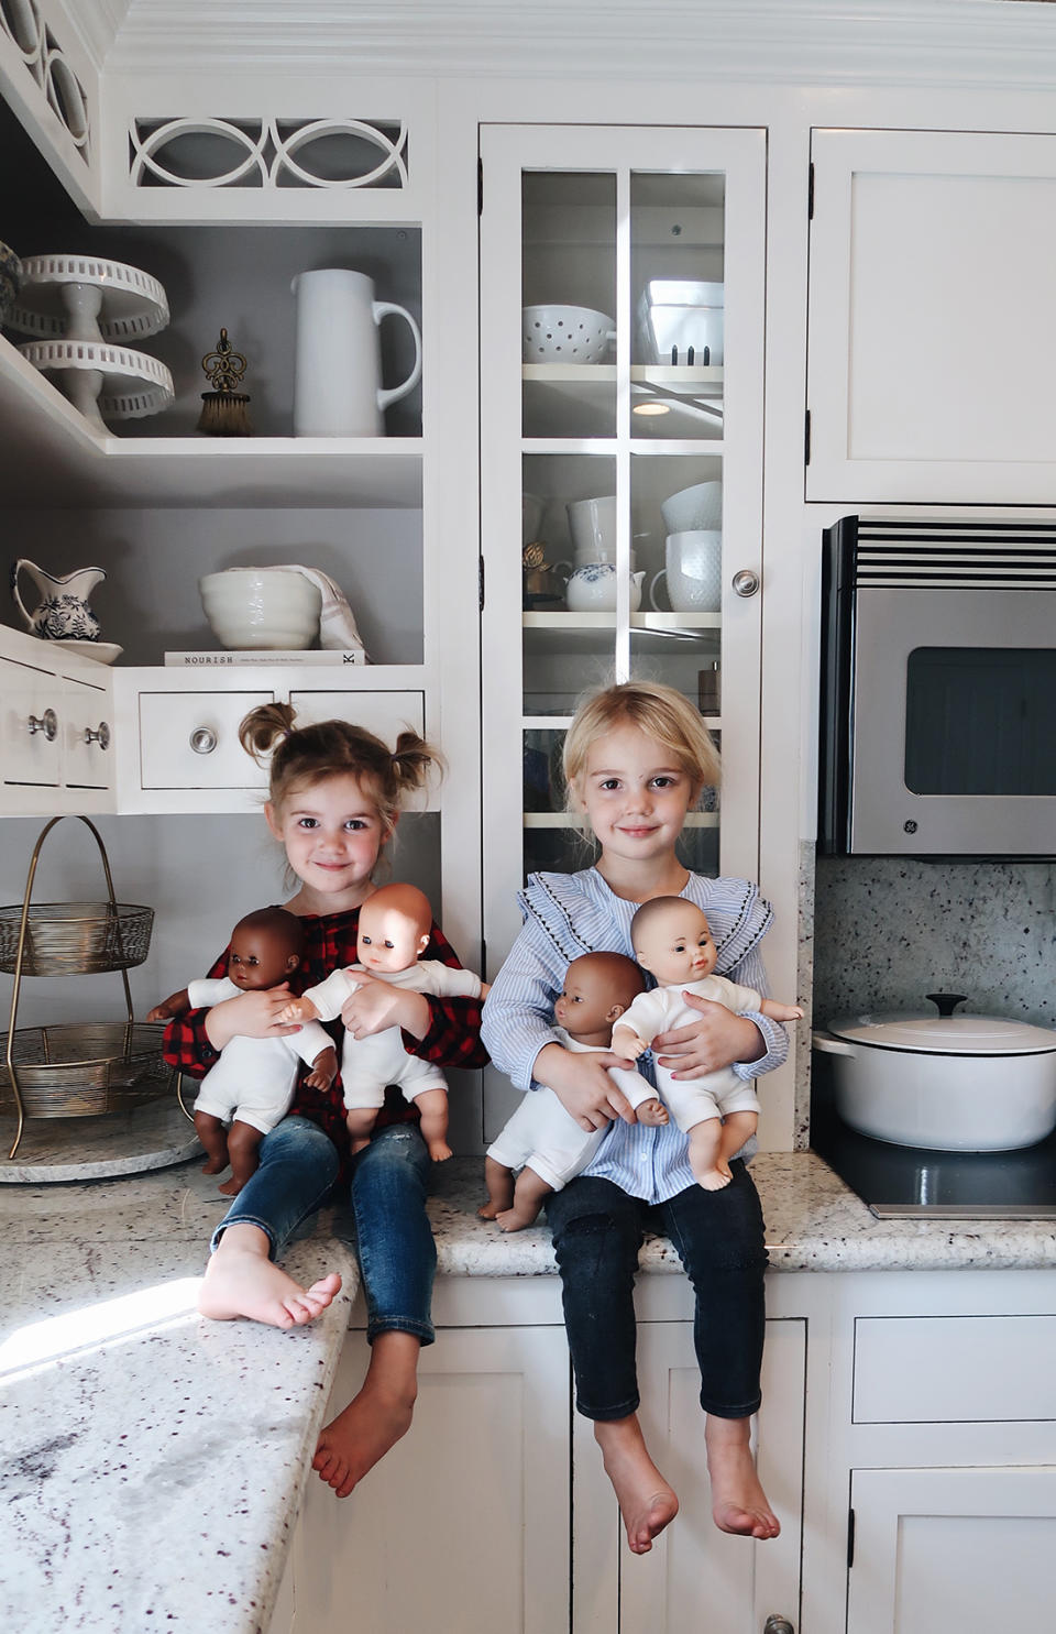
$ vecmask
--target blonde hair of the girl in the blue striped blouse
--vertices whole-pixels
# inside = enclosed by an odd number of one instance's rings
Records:
[[[636,725],[664,748],[690,778],[698,797],[703,789],[718,788],[719,752],[688,698],[662,681],[621,681],[582,698],[566,732],[562,765],[569,809],[574,809],[592,743],[621,725]]]

